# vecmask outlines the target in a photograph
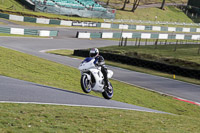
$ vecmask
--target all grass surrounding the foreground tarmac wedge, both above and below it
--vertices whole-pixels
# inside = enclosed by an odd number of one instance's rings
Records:
[[[0,75],[80,92],[80,72],[0,47]],[[198,132],[200,107],[111,80],[113,100],[157,109],[164,115],[112,109],[0,104],[0,132]],[[172,88],[173,89],[173,88]],[[100,96],[97,93],[91,93]],[[150,128],[151,127],[151,128]]]

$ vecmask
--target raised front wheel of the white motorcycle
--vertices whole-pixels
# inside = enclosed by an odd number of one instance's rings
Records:
[[[88,79],[87,75],[81,76],[81,88],[85,93],[90,93],[92,90],[91,81]]]

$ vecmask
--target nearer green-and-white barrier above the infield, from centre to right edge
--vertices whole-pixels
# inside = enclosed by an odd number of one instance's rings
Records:
[[[141,39],[175,39],[175,40],[200,40],[200,35],[166,34],[166,33],[113,33],[113,32],[77,32],[77,38],[141,38]]]

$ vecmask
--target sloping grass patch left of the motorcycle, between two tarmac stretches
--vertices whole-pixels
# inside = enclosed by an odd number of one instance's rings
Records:
[[[76,69],[4,48],[0,50],[0,75],[74,91],[80,88],[75,82],[79,73]]]

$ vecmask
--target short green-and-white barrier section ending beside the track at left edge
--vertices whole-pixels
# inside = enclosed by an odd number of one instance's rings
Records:
[[[0,33],[7,33],[7,34],[14,34],[14,35],[35,35],[35,36],[43,36],[43,37],[58,35],[58,31],[6,28],[6,27],[0,27]]]

